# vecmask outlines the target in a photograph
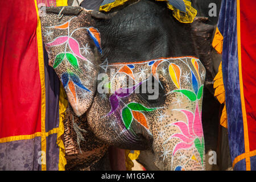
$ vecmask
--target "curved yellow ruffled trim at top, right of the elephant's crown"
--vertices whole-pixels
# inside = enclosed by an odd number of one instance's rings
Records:
[[[159,1],[159,0],[156,0]],[[176,9],[174,6],[167,3],[168,9],[172,10],[172,15],[181,23],[192,23],[196,17],[197,11],[191,6],[190,1],[183,0],[186,6],[186,13]]]

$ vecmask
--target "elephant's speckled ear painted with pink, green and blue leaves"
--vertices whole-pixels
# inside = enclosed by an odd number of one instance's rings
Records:
[[[46,7],[40,19],[48,64],[55,69],[73,111],[80,116],[90,107],[96,92],[100,32],[89,11],[81,7]]]

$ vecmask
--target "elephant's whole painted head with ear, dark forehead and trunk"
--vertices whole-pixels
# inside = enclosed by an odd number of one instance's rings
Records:
[[[49,65],[103,151],[151,150],[160,170],[203,170],[206,71],[192,26],[179,22],[166,2],[129,2],[108,14],[46,9]]]

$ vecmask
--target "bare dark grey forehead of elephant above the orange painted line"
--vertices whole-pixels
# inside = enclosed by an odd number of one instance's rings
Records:
[[[195,56],[191,25],[177,22],[172,11],[160,4],[139,1],[118,10],[110,20],[96,21],[103,58],[118,63],[161,56]]]

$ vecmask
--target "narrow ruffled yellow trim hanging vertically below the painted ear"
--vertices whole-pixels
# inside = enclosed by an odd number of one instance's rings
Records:
[[[67,164],[67,160],[65,159],[65,146],[63,140],[61,139],[64,134],[64,124],[63,121],[65,119],[65,111],[68,106],[67,94],[63,88],[63,85],[60,84],[60,96],[59,96],[59,131],[57,132],[57,145],[60,148],[59,154],[59,171],[65,171],[65,165]]]

